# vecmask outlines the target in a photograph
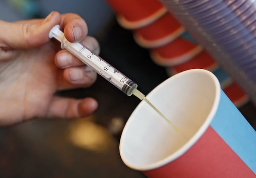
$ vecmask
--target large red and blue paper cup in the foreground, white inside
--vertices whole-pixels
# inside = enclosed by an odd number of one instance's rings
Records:
[[[209,71],[170,77],[131,114],[120,139],[124,163],[149,178],[255,178],[256,132]]]

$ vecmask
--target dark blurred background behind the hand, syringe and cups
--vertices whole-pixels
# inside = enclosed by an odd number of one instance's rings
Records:
[[[144,94],[169,78],[165,65],[152,60],[148,48],[134,40],[134,31],[122,27],[105,0],[0,0],[0,19],[44,18],[51,11],[79,14],[89,35],[101,46],[100,56],[139,85]],[[92,96],[99,108],[92,116],[73,120],[38,119],[0,127],[2,178],[143,178],[123,164],[119,139],[139,100],[98,77],[90,88],[66,90],[62,96]],[[244,97],[244,96],[243,96]],[[250,99],[237,105],[256,129],[256,107]]]

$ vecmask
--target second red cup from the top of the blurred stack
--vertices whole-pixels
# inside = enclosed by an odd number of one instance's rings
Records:
[[[185,31],[184,27],[166,13],[153,23],[134,30],[134,40],[144,48],[155,48],[175,40]]]

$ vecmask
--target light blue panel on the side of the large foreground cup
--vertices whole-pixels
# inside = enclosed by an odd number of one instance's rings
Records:
[[[211,126],[256,174],[256,132],[222,90]]]

